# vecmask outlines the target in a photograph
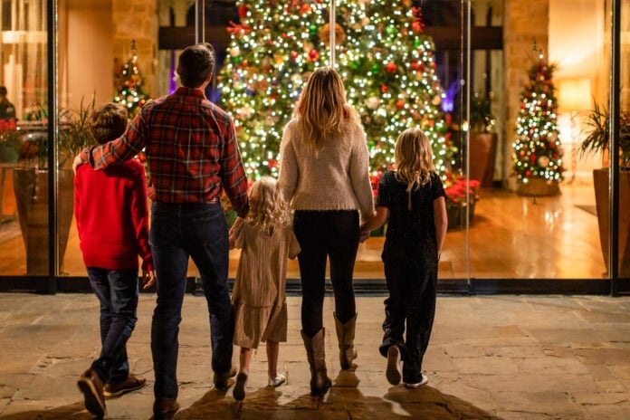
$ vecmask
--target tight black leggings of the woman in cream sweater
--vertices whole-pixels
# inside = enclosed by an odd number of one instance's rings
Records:
[[[352,274],[358,250],[358,212],[296,210],[293,229],[301,246],[301,325],[313,337],[323,328],[327,259],[337,318],[345,323],[357,313]]]

